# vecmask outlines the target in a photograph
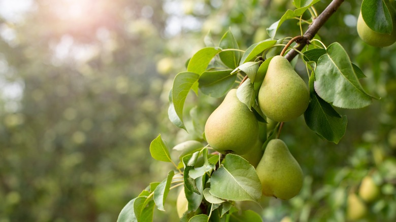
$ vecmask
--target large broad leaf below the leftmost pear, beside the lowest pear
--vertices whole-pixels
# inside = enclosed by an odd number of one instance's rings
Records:
[[[261,198],[261,182],[256,170],[238,155],[227,154],[223,165],[210,179],[210,193],[218,198],[233,201]]]

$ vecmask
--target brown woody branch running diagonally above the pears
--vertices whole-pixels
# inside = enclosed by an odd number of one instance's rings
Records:
[[[298,41],[299,45],[296,47],[297,50],[301,51],[309,40],[312,40],[315,34],[319,31],[319,29],[323,26],[323,24],[332,16],[340,5],[344,2],[344,0],[333,0],[326,9],[312,22],[309,26],[308,30],[304,33],[302,40]],[[286,55],[285,58],[291,61],[298,52],[295,50],[290,50]]]

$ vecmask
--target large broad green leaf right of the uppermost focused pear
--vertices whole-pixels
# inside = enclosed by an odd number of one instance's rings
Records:
[[[353,71],[348,54],[339,43],[327,48],[315,69],[315,91],[326,102],[341,108],[361,108],[371,104]]]

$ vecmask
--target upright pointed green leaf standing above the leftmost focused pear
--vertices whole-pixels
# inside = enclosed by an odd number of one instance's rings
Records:
[[[235,39],[231,30],[225,32],[220,40],[219,44],[222,49],[239,49],[237,40]],[[229,68],[236,68],[241,59],[241,53],[239,51],[222,51],[219,53],[221,61]]]

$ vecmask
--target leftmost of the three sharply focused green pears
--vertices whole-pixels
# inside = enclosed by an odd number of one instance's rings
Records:
[[[205,124],[205,137],[219,153],[248,153],[258,140],[258,123],[253,112],[230,90]]]

